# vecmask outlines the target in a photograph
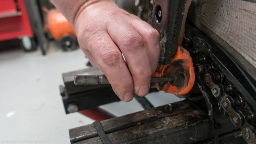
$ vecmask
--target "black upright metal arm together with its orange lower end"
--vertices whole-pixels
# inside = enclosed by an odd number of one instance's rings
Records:
[[[158,2],[155,1],[155,8],[157,14],[155,16],[155,21],[152,19],[152,25],[156,28],[161,35],[161,52],[159,65],[153,76],[156,77],[175,77],[175,82],[171,84],[170,82],[155,83],[152,88],[157,88],[158,90],[165,91],[167,93],[176,94],[178,97],[185,98],[186,95],[194,85],[195,73],[189,52],[184,49],[181,44],[183,40],[183,35],[185,32],[185,21],[187,17],[188,8],[190,6],[191,0],[179,1],[179,6],[174,6],[176,1],[165,1]],[[165,4],[165,5],[164,5]],[[182,4],[182,6],[181,6]],[[167,7],[174,6],[176,9],[167,9]],[[178,9],[177,9],[178,8]],[[171,11],[171,12],[167,12]],[[178,11],[176,18],[168,16]],[[160,15],[159,15],[160,14]],[[173,18],[173,19],[172,19]],[[176,24],[172,24],[170,21],[177,20],[180,24],[179,31],[172,31],[171,28],[175,27]],[[169,21],[169,23],[168,23]],[[169,24],[169,25],[168,25]],[[166,26],[168,25],[168,26]],[[163,29],[166,28],[166,29]],[[170,29],[169,29],[170,28]],[[178,27],[175,27],[178,28]],[[168,34],[166,32],[170,31]],[[172,35],[170,35],[172,33]],[[175,35],[175,36],[174,36]],[[179,37],[177,37],[179,35]],[[177,40],[177,41],[175,41]],[[169,44],[171,42],[171,44]],[[177,46],[173,46],[176,44]],[[174,51],[176,49],[176,52]],[[174,55],[175,54],[175,55]]]

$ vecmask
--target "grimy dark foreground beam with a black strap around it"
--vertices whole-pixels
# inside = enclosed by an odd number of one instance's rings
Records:
[[[186,101],[172,103],[172,110],[160,106],[126,116],[101,121],[111,143],[179,143],[192,144],[213,138],[213,123],[208,114]],[[228,117],[216,119],[222,124],[219,135],[234,131]],[[207,131],[205,131],[207,130]],[[101,143],[93,124],[70,129],[70,142]],[[241,137],[233,135],[234,138]]]

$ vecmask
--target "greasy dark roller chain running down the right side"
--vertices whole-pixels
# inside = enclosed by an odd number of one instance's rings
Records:
[[[184,36],[183,46],[190,52],[195,72],[211,89],[213,96],[222,106],[223,116],[226,112],[233,124],[241,128],[247,143],[255,144],[255,112],[207,53],[200,51],[199,47],[205,48],[208,45],[196,37],[194,40],[190,40]]]

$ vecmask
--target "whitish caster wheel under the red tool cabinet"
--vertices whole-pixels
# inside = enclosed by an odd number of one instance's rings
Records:
[[[32,52],[37,49],[37,44],[33,38],[23,37],[20,41],[20,47],[24,52]]]

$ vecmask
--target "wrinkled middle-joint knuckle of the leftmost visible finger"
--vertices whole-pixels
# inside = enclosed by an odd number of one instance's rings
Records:
[[[103,63],[110,67],[119,65],[123,58],[121,53],[116,49],[105,49],[100,53],[100,56]]]

